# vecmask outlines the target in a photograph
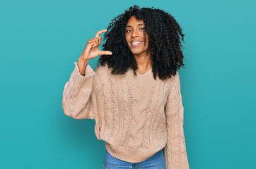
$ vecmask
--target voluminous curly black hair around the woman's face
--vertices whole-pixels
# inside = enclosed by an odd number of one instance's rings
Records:
[[[184,68],[184,56],[181,51],[181,47],[183,49],[184,47],[180,42],[180,37],[184,42],[184,34],[182,34],[180,25],[172,15],[153,7],[139,8],[139,6],[134,5],[112,20],[104,35],[104,39],[107,38],[107,40],[103,44],[103,50],[112,51],[112,55],[100,56],[98,63],[100,65],[107,63],[108,68],[112,68],[111,73],[113,75],[123,75],[129,68],[132,68],[134,75],[136,75],[138,65],[125,39],[125,27],[132,15],[136,19],[144,21],[145,45],[145,32],[149,35],[147,53],[149,54],[149,50],[151,51],[150,58],[154,79],[156,80],[156,75],[161,80],[176,75],[180,66]]]

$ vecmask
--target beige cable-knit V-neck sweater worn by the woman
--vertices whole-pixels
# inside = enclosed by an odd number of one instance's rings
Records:
[[[94,119],[96,137],[122,161],[139,163],[163,149],[167,169],[189,168],[178,72],[163,81],[152,69],[112,75],[107,65],[87,65],[82,76],[74,63],[62,96],[65,115]]]

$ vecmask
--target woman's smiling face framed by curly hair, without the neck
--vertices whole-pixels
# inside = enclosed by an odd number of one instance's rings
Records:
[[[146,45],[144,44],[144,22],[137,20],[134,15],[129,18],[125,28],[125,39],[129,49],[134,55],[146,55],[146,49],[149,46],[149,37],[146,34]],[[145,32],[146,33],[146,32]]]

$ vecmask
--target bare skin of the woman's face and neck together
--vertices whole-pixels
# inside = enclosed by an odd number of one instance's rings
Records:
[[[146,73],[152,67],[150,59],[151,52],[149,51],[149,54],[146,54],[146,49],[149,46],[149,37],[147,34],[146,45],[144,45],[144,26],[143,20],[138,20],[134,15],[132,15],[132,17],[127,21],[125,28],[125,39],[138,64],[136,72],[141,75]],[[132,40],[142,41],[142,43],[138,46],[132,46]]]

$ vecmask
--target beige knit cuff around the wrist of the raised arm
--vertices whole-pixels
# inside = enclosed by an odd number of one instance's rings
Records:
[[[86,74],[85,76],[82,76],[79,73],[77,63],[74,62],[74,64],[75,68],[73,70],[73,73],[71,73],[71,78],[74,81],[74,87],[77,87],[78,89],[80,89],[81,87],[91,88],[95,71],[91,68],[89,64],[87,64],[85,70]]]

